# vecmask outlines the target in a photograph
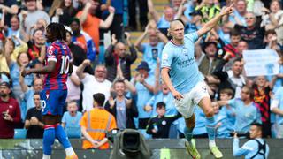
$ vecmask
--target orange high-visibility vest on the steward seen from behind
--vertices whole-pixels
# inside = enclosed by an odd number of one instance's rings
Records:
[[[101,141],[106,137],[106,133],[116,128],[115,118],[104,109],[93,109],[86,112],[80,122],[80,125],[87,128],[88,134],[93,140]],[[82,148],[93,148],[92,143],[88,140],[83,140]],[[109,143],[104,143],[99,149],[109,148]]]

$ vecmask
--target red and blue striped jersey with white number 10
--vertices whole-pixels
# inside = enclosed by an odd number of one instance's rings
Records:
[[[44,80],[45,90],[65,90],[67,89],[66,81],[69,72],[69,61],[71,59],[71,51],[65,42],[56,41],[51,43],[47,48],[45,65],[50,61],[55,61],[55,70],[46,74]]]

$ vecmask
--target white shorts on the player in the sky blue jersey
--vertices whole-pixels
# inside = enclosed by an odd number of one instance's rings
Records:
[[[207,85],[204,81],[199,81],[195,87],[180,100],[175,99],[176,109],[185,117],[191,117],[194,114],[194,106],[197,105],[203,97],[210,97]]]

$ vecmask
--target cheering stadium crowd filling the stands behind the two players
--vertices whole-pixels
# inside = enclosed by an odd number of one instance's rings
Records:
[[[44,76],[22,77],[20,72],[44,64],[49,54],[45,27],[50,22],[65,25],[72,51],[73,72],[62,117],[69,138],[93,138],[93,145],[102,149],[108,146],[101,136],[113,128],[139,129],[148,139],[183,138],[184,118],[160,77],[162,50],[171,39],[167,29],[172,20],[180,19],[186,33],[194,32],[231,3],[233,15],[195,42],[195,60],[208,85],[217,137],[232,138],[233,132],[244,136],[256,122],[263,125],[265,138],[283,138],[280,0],[168,0],[162,13],[152,0],[0,0],[0,138],[13,138],[14,130],[24,129],[27,138],[42,138],[44,103],[39,93]],[[132,31],[142,31],[134,42]],[[279,74],[247,76],[243,52],[255,49],[278,54]],[[133,69],[138,52],[142,62]],[[199,107],[195,117],[194,137],[206,138]]]

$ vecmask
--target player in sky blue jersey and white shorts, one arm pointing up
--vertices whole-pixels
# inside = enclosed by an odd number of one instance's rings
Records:
[[[216,158],[223,157],[216,147],[214,113],[207,86],[195,63],[194,42],[215,27],[223,16],[232,12],[233,4],[221,11],[213,19],[210,19],[209,22],[194,33],[184,35],[184,26],[179,20],[172,21],[168,29],[168,34],[172,36],[172,40],[163,49],[161,76],[175,98],[177,110],[185,117],[187,126],[184,131],[187,139],[185,146],[193,158],[201,157],[194,144],[191,143],[192,132],[195,127],[195,104],[198,104],[203,109],[206,116],[210,152]]]

